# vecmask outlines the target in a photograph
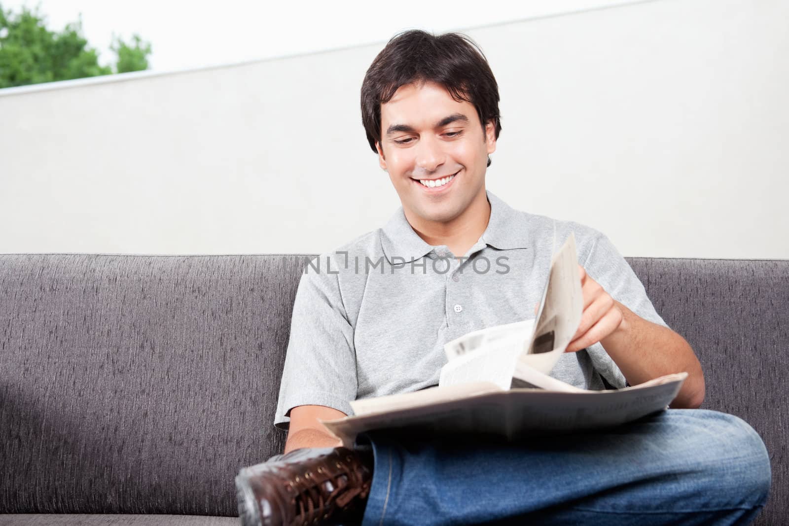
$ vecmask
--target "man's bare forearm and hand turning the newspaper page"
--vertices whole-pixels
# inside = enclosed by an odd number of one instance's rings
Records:
[[[704,374],[693,349],[673,330],[649,322],[614,300],[579,266],[584,311],[572,353],[600,342],[630,385],[686,371],[688,378],[672,408],[697,408],[704,401]]]

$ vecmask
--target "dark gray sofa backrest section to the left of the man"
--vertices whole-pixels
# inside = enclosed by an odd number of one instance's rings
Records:
[[[0,256],[0,513],[237,515],[302,259]]]

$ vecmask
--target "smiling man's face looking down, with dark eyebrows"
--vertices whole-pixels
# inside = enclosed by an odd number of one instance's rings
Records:
[[[485,199],[495,130],[490,122],[483,132],[473,104],[456,101],[440,84],[408,84],[381,105],[381,132],[379,162],[410,222],[451,222],[473,200]],[[447,184],[437,185],[449,176],[454,177]]]

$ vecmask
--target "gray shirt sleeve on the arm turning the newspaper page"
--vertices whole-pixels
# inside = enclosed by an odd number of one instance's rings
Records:
[[[586,240],[585,257],[583,252],[578,254],[578,259],[593,280],[598,282],[605,291],[615,300],[625,305],[641,318],[666,326],[664,320],[657,314],[652,301],[646,295],[644,285],[626,262],[614,244],[604,234],[589,229],[590,239]],[[588,248],[587,248],[588,247]],[[600,373],[616,388],[626,386],[626,379],[619,370],[611,356],[608,356],[603,345],[596,343],[586,349],[597,372]]]

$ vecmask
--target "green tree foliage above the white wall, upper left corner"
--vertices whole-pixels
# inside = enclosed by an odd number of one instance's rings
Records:
[[[82,34],[81,17],[53,32],[38,8],[13,13],[0,5],[0,88],[148,69],[151,44],[139,35],[132,43],[114,37],[110,49],[114,67],[100,65],[98,52]]]

